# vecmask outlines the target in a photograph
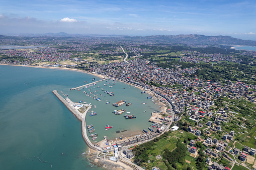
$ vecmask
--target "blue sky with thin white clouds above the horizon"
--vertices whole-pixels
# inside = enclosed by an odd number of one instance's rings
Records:
[[[256,40],[256,1],[0,1],[0,35],[59,32],[227,35]]]

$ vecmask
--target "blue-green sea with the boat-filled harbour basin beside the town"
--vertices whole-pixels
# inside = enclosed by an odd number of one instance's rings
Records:
[[[159,109],[150,99],[146,99],[147,94],[141,94],[139,89],[118,81],[102,81],[90,87],[101,101],[82,93],[90,88],[70,91],[70,88],[86,84],[84,81],[92,82],[94,76],[85,73],[5,65],[0,65],[0,73],[0,169],[102,169],[92,166],[84,157],[88,146],[81,136],[81,123],[52,90],[68,94],[72,101],[96,104],[97,108],[92,110],[97,115],[88,114],[86,121],[95,125],[95,132],[99,134],[97,141],[104,136],[114,139],[128,135],[129,131],[148,128],[151,111]],[[100,80],[95,78],[95,81]],[[111,83],[113,87],[109,84],[104,86],[106,83]],[[101,88],[112,91],[115,96],[109,96]],[[106,104],[106,100],[111,103]],[[112,106],[119,100],[133,104],[118,108]],[[137,118],[125,120],[123,114],[112,113],[122,108]],[[106,124],[113,128],[105,131]],[[116,133],[118,130],[124,132]]]

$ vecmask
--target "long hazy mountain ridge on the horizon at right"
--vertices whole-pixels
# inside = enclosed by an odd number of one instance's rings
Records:
[[[256,41],[241,40],[230,36],[204,36],[197,34],[190,35],[177,35],[177,36],[146,36],[134,37],[144,40],[159,41],[159,42],[172,42],[172,43],[185,43],[185,44],[226,44],[226,45],[243,45],[243,46],[256,46]]]

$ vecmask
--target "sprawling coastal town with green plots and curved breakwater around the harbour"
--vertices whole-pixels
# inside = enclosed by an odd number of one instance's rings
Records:
[[[118,40],[122,41],[122,39]],[[80,41],[76,40],[75,42]],[[165,105],[164,113],[152,113],[148,120],[157,125],[155,131],[147,132],[144,129],[141,136],[133,136],[114,143],[106,138],[109,147],[104,148],[99,144],[92,144],[88,139],[86,123],[84,125],[86,114],[71,111],[74,110],[75,104],[70,100],[58,97],[55,91],[54,94],[64,104],[66,103],[67,108],[73,114],[78,115],[76,117],[82,123],[83,138],[89,147],[98,150],[91,155],[93,163],[97,164],[100,160],[109,159],[121,162],[121,166],[124,163],[134,169],[171,169],[169,166],[177,169],[219,170],[256,168],[254,156],[256,149],[256,84],[249,84],[240,79],[235,81],[227,78],[223,78],[223,81],[205,80],[202,76],[197,75],[202,68],[190,67],[192,65],[184,68],[184,63],[213,65],[224,61],[232,63],[238,69],[238,66],[240,68],[248,61],[246,58],[234,57],[237,54],[231,56],[230,54],[183,50],[179,52],[180,56],[177,55],[178,53],[173,56],[177,59],[175,63],[173,63],[174,60],[168,60],[164,56],[158,56],[158,59],[163,58],[161,62],[158,62],[159,60],[154,61],[150,56],[145,57],[153,50],[138,48],[129,41],[122,43],[121,48],[117,45],[117,41],[116,44],[111,42],[113,40],[97,38],[88,41],[84,42],[84,45],[78,45],[78,43],[70,45],[59,40],[58,43],[61,44],[61,47],[67,46],[61,51],[56,47],[42,47],[34,50],[0,50],[0,55],[2,55],[0,62],[1,64],[81,70],[98,75],[104,80],[115,79],[134,85]],[[92,52],[92,48],[104,47],[103,42],[111,46],[113,50],[104,49]],[[33,45],[42,44],[35,43]],[[141,42],[140,45],[150,45],[150,42]],[[163,45],[155,44],[154,46],[165,48]],[[191,48],[194,46],[191,45]],[[175,46],[172,48],[174,49]],[[202,45],[200,48],[219,48],[219,46],[208,45],[205,47]],[[126,57],[124,57],[123,50],[126,50]],[[228,50],[226,49],[224,52]],[[81,55],[74,57],[71,51],[79,54],[87,51],[92,53],[87,54],[91,55],[89,57],[81,57]],[[97,57],[94,56],[96,53]],[[104,58],[104,55],[107,57]],[[239,55],[252,56],[254,59],[256,52],[242,51]],[[10,58],[13,59],[10,60]],[[111,58],[116,59],[109,62]],[[66,61],[68,64],[64,63]],[[103,61],[104,63],[102,63]],[[52,63],[42,64],[44,62]],[[249,61],[247,64],[253,66],[255,63]],[[167,66],[161,67],[163,65]],[[244,77],[246,76],[252,76],[251,79],[254,79],[255,72],[252,75],[244,73]],[[77,90],[81,87],[73,89]],[[73,106],[69,103],[72,103]],[[124,104],[125,102],[122,100],[113,105],[117,107],[120,103]],[[80,106],[82,107],[82,105],[86,106],[82,110],[84,113],[92,107],[81,103]],[[150,146],[148,149],[150,151],[142,153],[140,147],[146,147],[148,142],[153,142],[151,143],[152,147]],[[184,162],[172,164],[166,154],[180,149],[178,145],[181,143],[184,146],[181,149],[185,150],[185,155],[182,155]],[[157,148],[158,145],[161,147]],[[148,155],[146,158],[142,158],[143,154]]]

